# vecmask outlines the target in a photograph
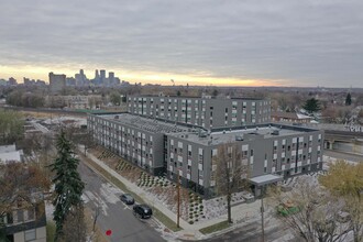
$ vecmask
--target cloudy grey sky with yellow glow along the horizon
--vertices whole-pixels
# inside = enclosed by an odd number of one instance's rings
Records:
[[[363,87],[362,0],[0,0],[0,78]]]

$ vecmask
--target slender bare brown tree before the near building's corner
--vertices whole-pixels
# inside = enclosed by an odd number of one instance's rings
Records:
[[[213,177],[216,179],[217,193],[227,197],[228,222],[232,223],[232,194],[245,185],[249,172],[248,162],[242,160],[242,153],[237,144],[228,143],[218,147],[212,163],[212,166],[216,165]]]

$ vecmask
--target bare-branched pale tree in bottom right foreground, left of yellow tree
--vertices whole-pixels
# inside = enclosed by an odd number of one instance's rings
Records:
[[[300,177],[292,191],[270,188],[268,204],[278,212],[278,219],[307,242],[334,242],[344,240],[350,227],[339,222],[344,202]]]

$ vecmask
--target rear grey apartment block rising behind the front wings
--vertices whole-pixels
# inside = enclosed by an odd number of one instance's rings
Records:
[[[271,121],[271,101],[265,99],[131,96],[128,107],[132,114],[206,129]]]

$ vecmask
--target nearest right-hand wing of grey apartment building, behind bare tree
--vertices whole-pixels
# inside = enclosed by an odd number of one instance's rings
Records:
[[[216,194],[216,156],[223,144],[238,148],[249,178],[273,174],[286,179],[322,168],[319,130],[270,123],[165,135],[168,178],[179,176],[185,187],[206,197]]]

